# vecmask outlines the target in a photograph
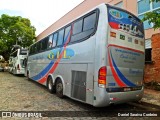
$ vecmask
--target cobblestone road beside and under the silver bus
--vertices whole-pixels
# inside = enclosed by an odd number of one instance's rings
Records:
[[[97,112],[103,114],[108,111],[107,115],[112,114],[111,116],[115,116],[113,119],[117,119],[117,111],[135,112],[137,110],[143,110],[143,108],[138,108],[128,104],[95,108],[91,105],[74,101],[68,97],[60,99],[55,94],[50,94],[46,87],[36,82],[28,81],[23,76],[14,76],[8,72],[0,72],[0,101],[1,111],[77,111],[75,113],[68,112],[67,114],[77,114],[77,116],[79,116],[78,114],[80,114],[80,116],[83,116],[84,114],[85,117],[85,111],[95,111],[95,114]],[[59,112],[57,114],[63,116],[63,114],[66,113]],[[87,114],[91,114],[87,116],[87,119],[97,119],[97,117],[92,113]],[[85,117],[83,119],[86,119]],[[80,118],[70,117],[66,119]],[[135,117],[135,119],[137,119],[137,117]],[[143,117],[142,119],[150,118]],[[157,118],[155,118],[155,120],[156,119]]]

